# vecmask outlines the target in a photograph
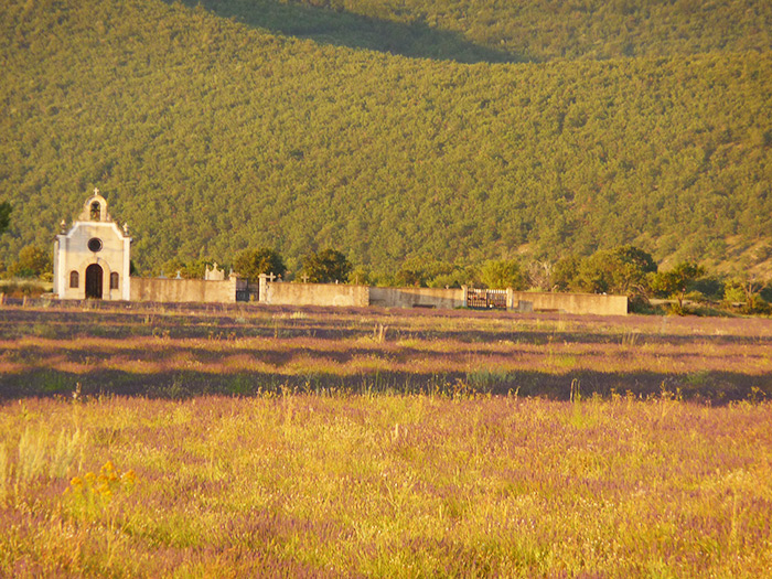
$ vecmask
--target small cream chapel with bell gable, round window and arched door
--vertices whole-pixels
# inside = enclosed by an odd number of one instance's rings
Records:
[[[54,294],[61,300],[129,300],[131,237],[107,213],[95,189],[83,211],[54,239]]]

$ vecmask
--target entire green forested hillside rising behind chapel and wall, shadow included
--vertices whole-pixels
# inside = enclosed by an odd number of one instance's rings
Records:
[[[772,243],[768,2],[331,3],[4,2],[0,259],[94,186],[146,271]]]

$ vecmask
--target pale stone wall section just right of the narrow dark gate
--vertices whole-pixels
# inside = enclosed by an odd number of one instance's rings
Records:
[[[369,288],[343,283],[266,282],[260,286],[259,301],[274,305],[366,308],[369,305]]]

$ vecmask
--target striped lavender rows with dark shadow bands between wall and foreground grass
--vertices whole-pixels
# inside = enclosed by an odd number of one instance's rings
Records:
[[[256,305],[0,309],[0,397],[290,388],[772,396],[772,323]]]

